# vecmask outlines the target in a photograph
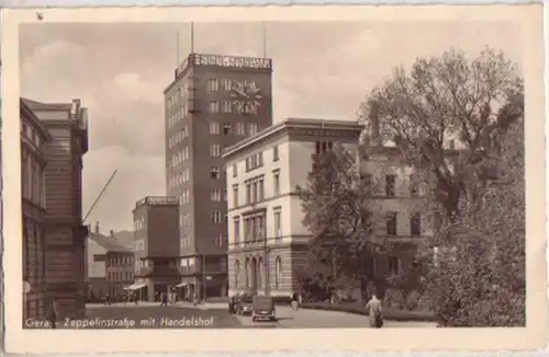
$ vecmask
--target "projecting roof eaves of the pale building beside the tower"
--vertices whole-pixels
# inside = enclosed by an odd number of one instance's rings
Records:
[[[356,120],[327,120],[320,118],[287,118],[281,123],[274,124],[254,136],[250,136],[244,140],[238,141],[237,143],[228,147],[224,150],[223,157],[228,158],[238,151],[245,149],[249,145],[254,142],[261,141],[284,128],[301,128],[301,129],[326,129],[326,130],[356,130],[357,134],[363,130],[363,125],[359,124]],[[357,136],[358,142],[358,136]]]

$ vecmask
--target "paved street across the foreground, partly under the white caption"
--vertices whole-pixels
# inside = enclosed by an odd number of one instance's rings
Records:
[[[88,321],[93,326],[80,329],[189,329],[189,327],[247,327],[247,329],[305,329],[305,327],[368,327],[368,318],[357,314],[277,308],[277,321],[253,322],[250,316],[231,315],[225,304],[168,306],[158,303],[111,307],[90,306]],[[111,325],[109,322],[115,321]],[[125,322],[123,322],[125,321]],[[128,325],[133,322],[133,325]],[[101,325],[102,324],[102,325]],[[68,327],[68,326],[65,326]],[[385,321],[385,327],[435,327],[434,323]]]

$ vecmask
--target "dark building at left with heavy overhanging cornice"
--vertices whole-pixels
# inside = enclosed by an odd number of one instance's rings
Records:
[[[88,111],[80,100],[23,102],[52,137],[45,177],[47,297],[57,302],[60,315],[82,316],[88,237],[82,224],[82,156],[88,151]]]

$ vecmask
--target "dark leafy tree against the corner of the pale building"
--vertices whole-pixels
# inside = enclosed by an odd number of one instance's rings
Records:
[[[296,192],[309,242],[309,276],[326,289],[358,279],[366,286],[367,260],[374,254],[371,183],[362,180],[357,157],[343,146],[315,154],[304,186]],[[362,289],[363,290],[363,289]]]

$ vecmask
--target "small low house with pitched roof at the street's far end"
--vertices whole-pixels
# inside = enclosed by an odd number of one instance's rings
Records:
[[[122,300],[125,289],[134,281],[134,252],[120,242],[111,230],[101,234],[99,223],[88,242],[88,298]]]

